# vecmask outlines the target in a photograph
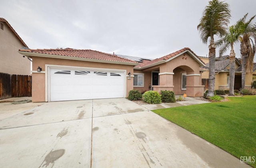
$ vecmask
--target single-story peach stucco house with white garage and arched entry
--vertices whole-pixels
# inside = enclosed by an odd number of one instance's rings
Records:
[[[190,48],[154,60],[95,50],[20,49],[33,59],[32,101],[126,98],[132,89],[203,96],[200,66]]]

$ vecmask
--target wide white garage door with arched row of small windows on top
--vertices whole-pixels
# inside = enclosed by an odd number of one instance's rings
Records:
[[[124,71],[50,68],[50,101],[124,97]]]

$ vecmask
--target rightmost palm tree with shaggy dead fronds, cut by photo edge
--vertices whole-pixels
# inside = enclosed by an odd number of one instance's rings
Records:
[[[242,55],[242,89],[245,87],[245,75],[251,73],[253,68],[253,58],[256,51],[256,26],[251,22],[256,15],[252,16],[250,20],[245,22],[248,13],[244,15],[240,22],[240,33],[242,36],[239,37],[241,42],[241,55]],[[251,39],[254,38],[254,43]]]

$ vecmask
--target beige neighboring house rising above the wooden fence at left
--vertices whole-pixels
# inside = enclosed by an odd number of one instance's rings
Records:
[[[0,73],[30,75],[30,60],[18,53],[28,46],[4,18],[0,18],[0,42]]]

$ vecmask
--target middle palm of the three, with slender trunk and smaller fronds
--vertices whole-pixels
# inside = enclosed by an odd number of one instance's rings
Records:
[[[240,20],[235,26],[230,26],[226,36],[216,42],[216,46],[221,46],[219,53],[220,56],[224,52],[231,48],[229,54],[229,95],[234,96],[234,84],[235,84],[235,67],[236,67],[236,53],[234,51],[234,44],[238,42],[240,36],[239,24]]]

